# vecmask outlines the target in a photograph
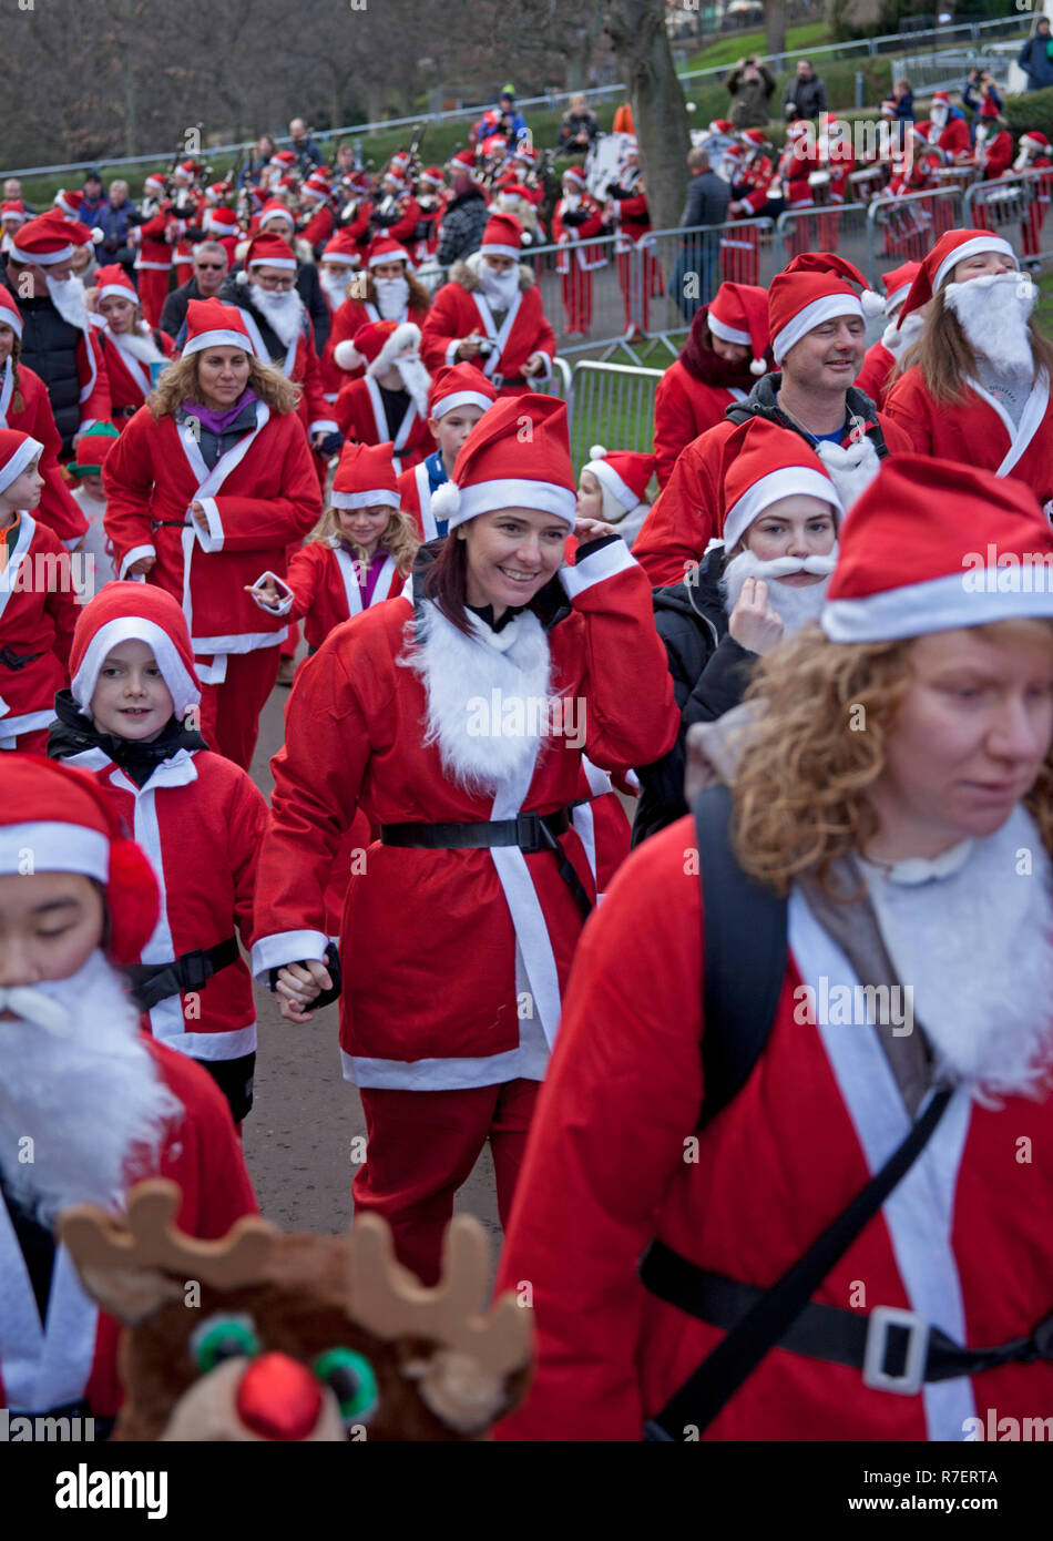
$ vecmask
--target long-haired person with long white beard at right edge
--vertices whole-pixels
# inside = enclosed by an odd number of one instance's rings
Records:
[[[1013,247],[987,230],[936,242],[899,313],[930,311],[886,413],[919,455],[1013,476],[1053,502],[1053,344],[1038,330],[1038,288]]]

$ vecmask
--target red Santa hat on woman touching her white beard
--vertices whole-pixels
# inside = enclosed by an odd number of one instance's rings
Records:
[[[731,435],[723,450],[723,542],[735,549],[754,519],[782,498],[819,498],[840,521],[843,505],[823,462],[799,433],[751,418]]]

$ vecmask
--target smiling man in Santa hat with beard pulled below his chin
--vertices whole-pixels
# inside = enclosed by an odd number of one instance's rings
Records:
[[[768,325],[777,373],[762,376],[746,401],[677,459],[632,549],[654,584],[681,582],[717,535],[726,444],[740,422],[766,418],[803,438],[845,510],[885,455],[910,448],[902,428],[853,384],[866,351],[866,317],[880,310],[880,294],[866,288],[859,268],[828,251],[794,257],[772,279]]]

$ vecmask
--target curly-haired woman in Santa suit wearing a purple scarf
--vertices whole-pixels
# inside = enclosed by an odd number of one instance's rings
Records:
[[[253,353],[242,311],[191,299],[187,342],[103,468],[122,578],[183,607],[205,740],[242,769],[278,675],[285,629],[245,593],[318,522],[318,476],[293,385]]]

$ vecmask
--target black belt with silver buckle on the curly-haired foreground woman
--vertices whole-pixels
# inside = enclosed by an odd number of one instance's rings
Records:
[[[640,1279],[658,1299],[726,1331],[768,1294],[757,1285],[708,1273],[660,1241],[654,1241],[644,1253]],[[1053,1359],[1053,1314],[1025,1338],[1013,1338],[996,1348],[962,1348],[917,1311],[891,1305],[846,1311],[811,1301],[780,1338],[779,1347],[806,1359],[851,1365],[863,1371],[866,1385],[913,1396],[922,1381],[953,1381],[1002,1364]]]

